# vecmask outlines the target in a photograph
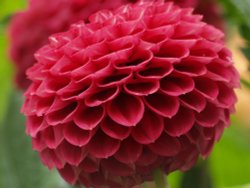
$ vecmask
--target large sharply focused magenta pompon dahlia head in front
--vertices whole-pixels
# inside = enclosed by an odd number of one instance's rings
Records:
[[[103,10],[36,53],[22,112],[42,162],[71,184],[132,187],[207,157],[239,76],[223,33],[172,3]]]

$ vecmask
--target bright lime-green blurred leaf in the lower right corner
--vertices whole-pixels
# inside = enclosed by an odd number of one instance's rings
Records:
[[[249,184],[250,181],[250,132],[242,130],[240,122],[225,130],[215,145],[210,158],[212,178],[216,187]]]

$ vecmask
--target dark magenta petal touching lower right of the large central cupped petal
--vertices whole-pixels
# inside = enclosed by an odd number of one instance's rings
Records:
[[[163,118],[146,110],[142,120],[133,128],[132,136],[140,144],[150,144],[160,137],[163,130]]]

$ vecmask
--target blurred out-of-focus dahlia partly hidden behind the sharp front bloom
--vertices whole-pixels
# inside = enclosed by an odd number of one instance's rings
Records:
[[[16,83],[20,89],[27,89],[30,81],[26,70],[35,63],[34,53],[46,44],[47,38],[54,33],[65,31],[71,24],[79,20],[87,21],[90,14],[100,9],[113,9],[128,2],[137,0],[30,0],[28,10],[16,14],[10,26],[10,56],[15,63]],[[148,0],[153,1],[153,0]],[[170,0],[168,0],[170,1]],[[172,0],[171,0],[172,1]],[[218,15],[212,9],[206,9],[204,0],[174,0],[182,7],[197,7],[198,13],[205,13],[209,23],[211,15]],[[199,3],[200,2],[200,3]],[[204,2],[204,3],[202,3]],[[199,4],[198,4],[199,3]],[[210,10],[212,13],[210,13]],[[208,18],[208,19],[207,19]],[[216,19],[219,19],[216,16]],[[220,20],[220,19],[219,19]],[[216,21],[217,24],[217,21]]]

